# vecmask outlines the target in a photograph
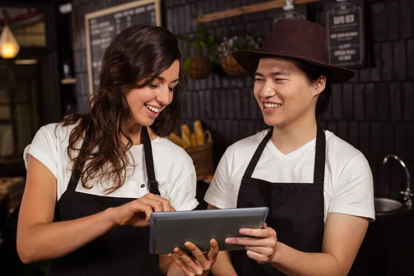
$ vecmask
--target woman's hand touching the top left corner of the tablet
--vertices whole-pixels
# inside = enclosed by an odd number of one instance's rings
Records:
[[[118,225],[145,227],[149,225],[152,212],[175,211],[170,201],[148,193],[139,199],[130,201],[119,207],[111,208],[112,217]]]

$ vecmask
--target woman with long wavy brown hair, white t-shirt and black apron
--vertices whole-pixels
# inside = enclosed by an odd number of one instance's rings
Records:
[[[168,255],[149,253],[148,237],[152,212],[198,204],[193,161],[163,138],[181,120],[180,58],[165,28],[127,28],[103,56],[90,113],[37,132],[24,152],[24,263],[51,259],[50,275],[159,275],[160,264],[162,273],[184,274]],[[213,243],[212,259],[217,250]],[[195,270],[212,262],[190,261]]]

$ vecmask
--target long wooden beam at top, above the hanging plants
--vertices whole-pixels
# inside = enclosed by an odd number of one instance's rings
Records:
[[[306,3],[313,3],[321,0],[295,0],[293,1],[293,5],[300,5]],[[221,10],[220,12],[213,12],[210,14],[200,15],[198,17],[198,21],[200,23],[206,23],[210,21],[215,21],[219,19],[225,19],[228,17],[237,17],[242,14],[248,14],[253,12],[262,12],[264,10],[273,10],[277,8],[283,8],[286,6],[286,0],[275,0],[275,1],[268,1],[264,3],[258,3],[248,6],[243,6],[239,8],[233,8],[230,10]]]

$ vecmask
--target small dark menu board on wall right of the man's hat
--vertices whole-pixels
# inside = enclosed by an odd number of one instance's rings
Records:
[[[364,67],[364,0],[328,1],[324,6],[331,64],[347,68]]]

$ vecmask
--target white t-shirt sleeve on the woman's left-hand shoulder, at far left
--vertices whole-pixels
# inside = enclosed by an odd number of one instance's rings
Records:
[[[55,124],[42,126],[34,135],[32,144],[28,145],[23,152],[25,166],[28,166],[29,155],[36,158],[46,166],[57,178],[57,137],[55,135]]]

